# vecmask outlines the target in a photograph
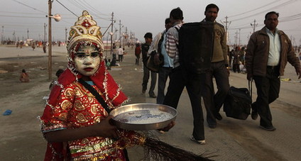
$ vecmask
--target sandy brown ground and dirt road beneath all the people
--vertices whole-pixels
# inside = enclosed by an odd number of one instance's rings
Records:
[[[126,48],[124,62],[120,67],[109,71],[123,91],[131,99],[129,104],[151,102],[148,95],[141,94],[142,64],[134,65],[133,49]],[[104,52],[109,56],[109,52]],[[67,65],[64,46],[53,47],[53,79],[55,72]],[[31,82],[21,83],[18,80],[21,70],[30,75]],[[283,78],[292,79],[282,82],[280,98],[272,104],[273,123],[277,131],[270,133],[258,128],[258,120],[251,118],[239,121],[224,117],[218,122],[218,128],[205,127],[207,145],[192,143],[188,136],[191,133],[192,117],[186,91],[179,102],[177,125],[159,138],[172,145],[180,146],[192,152],[205,152],[217,155],[215,160],[298,160],[300,154],[301,129],[301,86],[295,70],[288,65]],[[246,75],[231,73],[230,84],[236,87],[247,87]],[[43,113],[45,101],[43,96],[49,94],[48,53],[41,48],[18,48],[0,46],[0,160],[43,160],[46,141],[40,133],[37,116]],[[256,98],[256,87],[253,85],[253,100]],[[9,116],[2,113],[10,109]],[[143,157],[141,148],[128,150],[131,160]]]

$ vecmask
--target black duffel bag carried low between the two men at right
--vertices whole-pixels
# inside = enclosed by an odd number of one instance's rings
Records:
[[[252,99],[246,88],[230,87],[224,101],[224,112],[227,117],[246,120],[251,111]]]

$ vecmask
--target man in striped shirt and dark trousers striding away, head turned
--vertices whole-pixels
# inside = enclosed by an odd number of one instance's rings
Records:
[[[170,74],[170,83],[163,104],[177,109],[177,104],[182,91],[184,87],[186,87],[192,106],[194,126],[190,139],[204,145],[204,118],[200,96],[202,74],[194,74],[190,73],[190,71],[185,71],[185,67],[180,65],[179,50],[177,46],[179,45],[178,30],[180,30],[182,26],[182,20],[183,13],[180,8],[170,11],[170,21],[173,24],[173,28],[168,30],[165,45],[168,56],[173,58],[173,70]],[[187,72],[187,74],[184,75],[183,73],[185,72]]]

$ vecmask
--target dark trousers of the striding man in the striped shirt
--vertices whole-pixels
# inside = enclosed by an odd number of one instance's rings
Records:
[[[182,91],[186,87],[192,106],[192,135],[197,140],[204,140],[204,118],[201,105],[201,79],[204,77],[205,74],[186,74],[181,67],[173,69],[170,74],[168,91],[163,101],[163,104],[177,109]]]

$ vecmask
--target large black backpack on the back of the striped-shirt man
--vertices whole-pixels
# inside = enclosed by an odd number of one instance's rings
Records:
[[[179,33],[180,65],[196,74],[209,70],[214,48],[214,23],[183,23]]]

